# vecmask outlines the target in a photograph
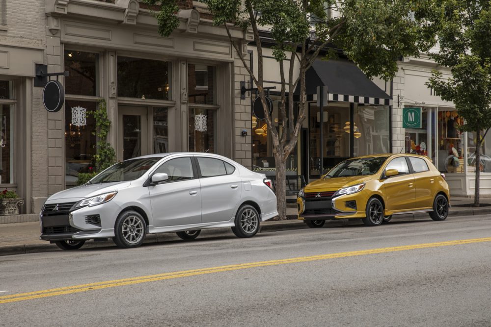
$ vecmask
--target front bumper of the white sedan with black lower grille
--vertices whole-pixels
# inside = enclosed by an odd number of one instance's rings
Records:
[[[61,241],[114,237],[114,223],[120,207],[111,202],[82,207],[61,215],[42,214],[40,239]],[[93,217],[99,217],[99,223]]]

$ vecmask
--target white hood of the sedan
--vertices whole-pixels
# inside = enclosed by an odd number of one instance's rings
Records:
[[[74,188],[53,194],[46,201],[47,203],[53,201],[70,202],[79,201],[84,198],[93,197],[99,194],[117,191],[131,185],[131,181],[114,182],[114,183],[96,183],[96,184],[83,184]]]

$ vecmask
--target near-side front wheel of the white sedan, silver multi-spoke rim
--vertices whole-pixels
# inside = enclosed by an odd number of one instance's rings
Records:
[[[147,224],[136,211],[123,211],[114,224],[114,243],[120,248],[136,248],[145,240]]]

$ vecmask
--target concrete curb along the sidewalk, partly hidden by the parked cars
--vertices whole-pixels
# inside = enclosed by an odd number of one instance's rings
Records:
[[[477,216],[491,214],[491,207],[483,207],[483,208],[460,208],[458,210],[454,209],[448,213],[449,217],[466,217],[466,216]],[[290,218],[293,218],[290,215]],[[416,220],[416,219],[429,219],[428,213],[415,213],[415,214],[405,214],[405,215],[396,215],[394,219],[397,220]],[[346,222],[346,220],[340,220],[343,226],[349,226],[350,223]],[[297,219],[288,219],[288,220],[274,220],[268,221],[261,224],[260,233],[265,232],[274,232],[281,231],[286,229],[303,229],[307,228],[307,226],[303,223],[303,221]],[[164,241],[165,234],[151,234],[147,235],[144,243],[157,243]],[[93,242],[90,241],[84,245],[85,249],[91,248],[102,248],[102,247],[115,247],[112,240],[104,241],[104,242]],[[26,253],[38,253],[38,252],[51,252],[51,251],[62,251],[58,249],[55,244],[22,244],[22,245],[11,245],[11,246],[1,246],[0,247],[0,256],[3,255],[14,255],[14,254],[26,254]]]

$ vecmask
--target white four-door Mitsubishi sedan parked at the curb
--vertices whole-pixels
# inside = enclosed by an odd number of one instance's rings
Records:
[[[201,229],[227,226],[252,237],[277,214],[263,174],[216,154],[160,153],[119,162],[52,195],[40,213],[41,239],[75,250],[89,239],[134,248],[146,234],[194,239]]]

